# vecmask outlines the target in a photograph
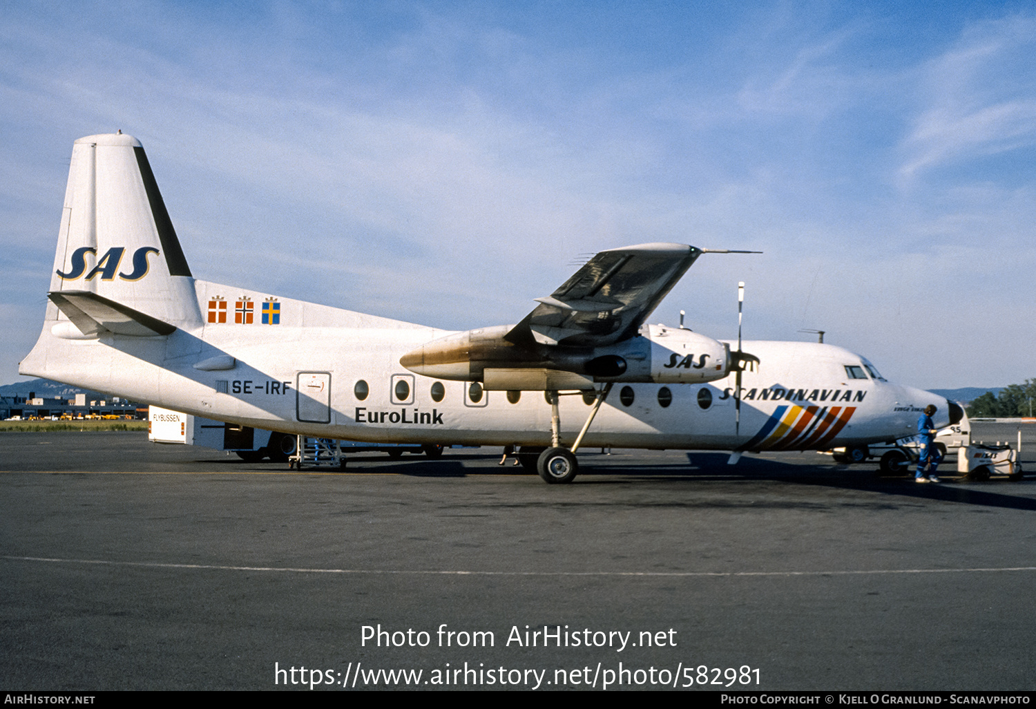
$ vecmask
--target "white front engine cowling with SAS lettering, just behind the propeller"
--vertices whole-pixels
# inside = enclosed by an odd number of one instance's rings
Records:
[[[658,384],[698,384],[722,379],[731,370],[730,349],[690,330],[649,325],[651,380]]]

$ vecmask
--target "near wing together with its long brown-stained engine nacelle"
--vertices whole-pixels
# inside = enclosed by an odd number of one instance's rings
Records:
[[[620,377],[656,380],[679,350],[681,360],[692,352],[709,360],[708,376],[719,378],[729,359],[720,342],[681,331],[670,338],[677,349],[653,347],[639,332],[702,253],[684,244],[602,251],[560,288],[536,299],[540,305],[518,324],[449,335],[407,352],[400,364],[425,376],[481,381],[487,390],[588,390]],[[681,373],[700,378],[703,367]]]

